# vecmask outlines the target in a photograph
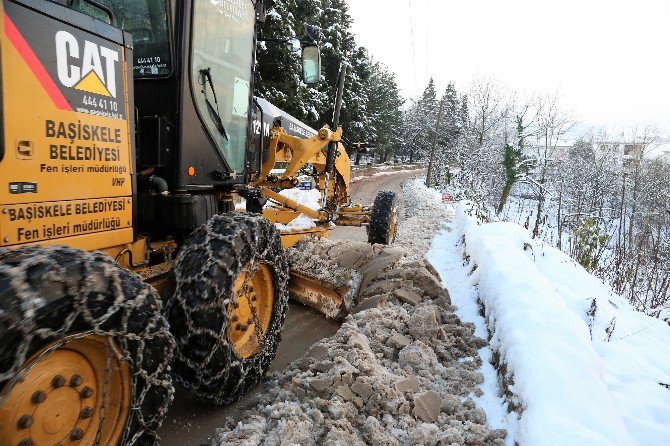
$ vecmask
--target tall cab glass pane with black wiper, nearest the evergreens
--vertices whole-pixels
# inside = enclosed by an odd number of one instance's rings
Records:
[[[235,172],[244,170],[251,102],[251,0],[194,0],[191,82],[198,112]]]

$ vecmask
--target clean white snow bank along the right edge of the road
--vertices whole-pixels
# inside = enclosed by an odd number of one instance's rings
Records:
[[[524,445],[663,444],[670,435],[670,327],[512,223],[459,204],[472,283]]]

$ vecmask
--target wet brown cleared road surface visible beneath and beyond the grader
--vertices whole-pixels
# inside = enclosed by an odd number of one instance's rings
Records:
[[[400,185],[403,181],[422,174],[425,175],[425,170],[360,179],[351,184],[351,195],[355,202],[371,205],[378,191],[393,190],[400,193]],[[404,215],[403,206],[404,203],[401,200],[399,213],[401,223]],[[336,228],[332,231],[330,238],[365,242],[367,234],[364,228]],[[323,338],[334,335],[338,329],[338,323],[327,320],[309,307],[291,301],[284,324],[282,342],[270,371],[284,370],[291,362],[304,355],[309,347]],[[237,403],[225,407],[212,407],[193,400],[178,388],[166,420],[158,431],[161,436],[161,445],[208,444],[207,440],[214,434],[217,427],[225,425],[229,418],[239,419],[245,409],[254,405],[257,395],[262,391],[263,385],[261,384]]]

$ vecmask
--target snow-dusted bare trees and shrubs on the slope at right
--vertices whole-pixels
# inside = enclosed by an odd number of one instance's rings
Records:
[[[403,150],[430,162],[436,187],[523,224],[636,309],[670,320],[664,141],[651,126],[577,125],[559,95],[523,97],[490,79],[439,95],[431,80],[404,112]]]

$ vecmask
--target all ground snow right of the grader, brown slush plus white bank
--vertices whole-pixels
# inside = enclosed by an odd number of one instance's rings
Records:
[[[272,377],[213,444],[670,444],[665,322],[520,225],[482,223],[421,180],[403,193],[404,263],[387,274],[405,282],[368,283],[389,296]],[[396,292],[424,256],[453,306]]]

